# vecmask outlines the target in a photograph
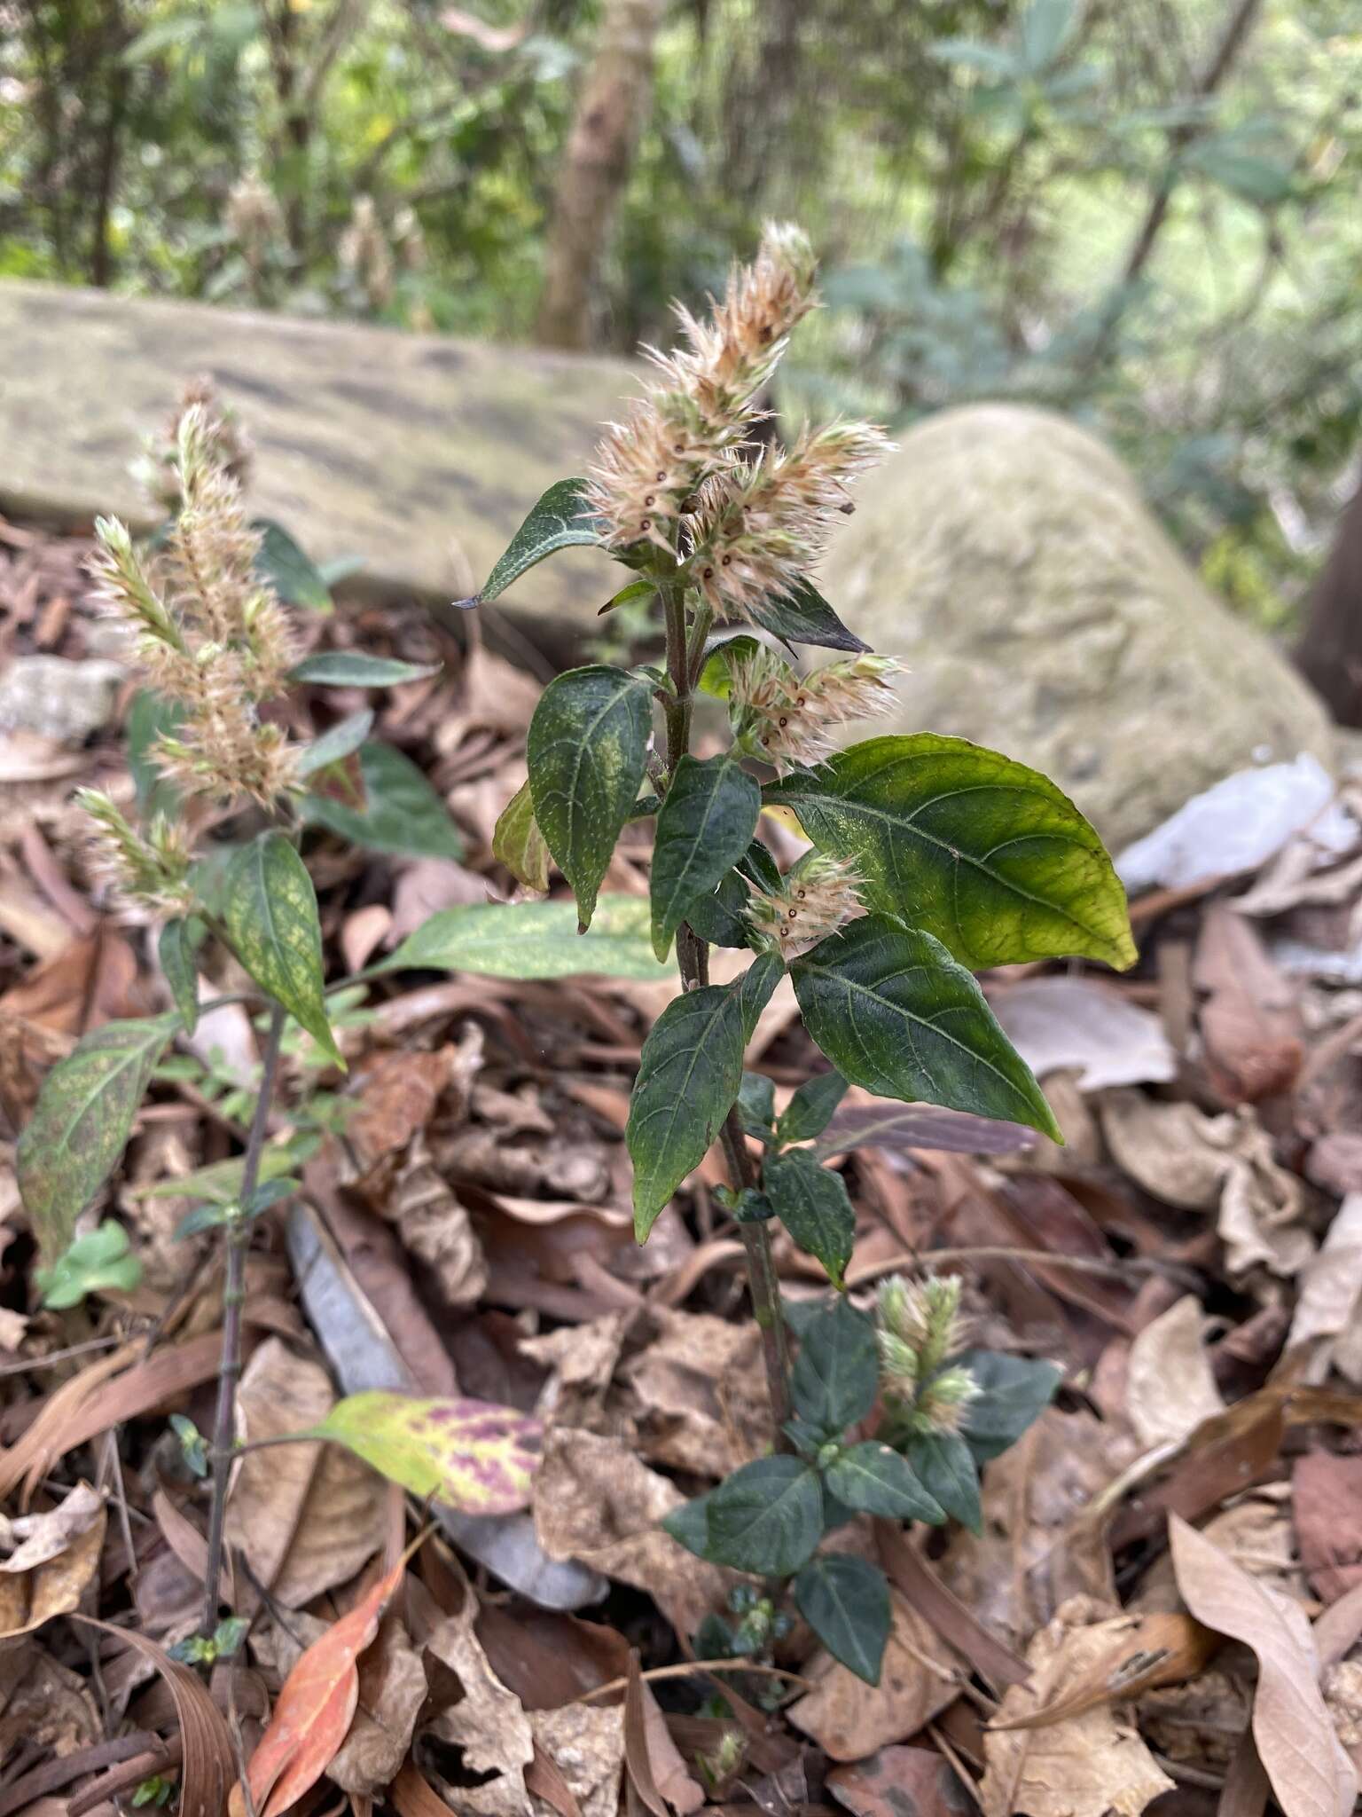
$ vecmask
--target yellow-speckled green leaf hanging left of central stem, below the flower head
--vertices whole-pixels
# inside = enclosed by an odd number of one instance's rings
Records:
[[[648,685],[603,663],[556,676],[530,720],[534,818],[583,930],[643,781],[650,727]]]

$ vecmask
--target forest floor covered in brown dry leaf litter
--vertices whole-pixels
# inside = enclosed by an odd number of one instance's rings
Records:
[[[0,669],[98,649],[87,552],[0,523]],[[525,779],[538,683],[414,605],[347,605],[307,634],[441,665],[381,696],[303,690],[294,730],[376,703],[458,829],[407,807],[369,829],[378,849],[309,836],[340,978],[439,908],[510,894],[492,827]],[[131,799],[129,694],[78,745],[0,736],[7,1145],[78,1036],[167,1001],[154,927],[111,912],[71,803],[78,783]],[[1064,1148],[1004,1125],[979,1152],[979,1125],[926,1108],[872,1143],[872,1101],[839,1112],[854,1294],[895,1268],[959,1272],[979,1343],[1064,1370],[986,1466],[977,1535],[950,1524],[919,1544],[859,1517],[852,1544],[893,1583],[875,1690],[803,1626],[741,1670],[692,1664],[741,1581],[657,1519],[759,1455],[770,1426],[721,1176],[701,1167],[648,1245],[632,1236],[621,1130],[672,985],[392,974],[343,999],[345,1077],[291,1050],[271,1145],[305,1190],[254,1226],[243,1432],[314,1425],[338,1385],[394,1383],[547,1426],[532,1521],[454,1517],[407,1566],[300,1810],[1351,1808],[1362,796],[1344,787],[1304,830],[1273,834],[1251,794],[1233,818],[1208,810],[1200,876],[1135,899],[1130,976],[984,978]],[[1246,825],[1258,849],[1206,874]],[[607,889],[646,896],[646,865],[637,829]],[[212,1232],[174,1232],[240,1154],[258,1038],[229,1005],[156,1076],[104,1210],[136,1286],[44,1306],[0,1172],[0,1817],[211,1812],[205,1735],[231,1737],[234,1779],[301,1650],[370,1595],[410,1528],[401,1492],[349,1454],[243,1459],[229,1603],[249,1632],[207,1673],[171,1663],[200,1624],[207,1492],[169,1421],[211,1428],[222,1325]],[[783,987],[748,1067],[779,1103],[810,1059]],[[790,1299],[819,1292],[810,1257],[777,1243],[777,1263]]]

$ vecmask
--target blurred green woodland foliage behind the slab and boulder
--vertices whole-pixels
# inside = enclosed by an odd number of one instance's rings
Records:
[[[9,13],[0,276],[530,338],[599,4]],[[1050,403],[1117,442],[1215,587],[1286,623],[1358,440],[1360,140],[1347,0],[676,0],[597,340],[668,338],[670,296],[795,216],[832,307],[786,411]],[[254,240],[251,185],[278,207]],[[356,196],[376,263],[347,243]]]

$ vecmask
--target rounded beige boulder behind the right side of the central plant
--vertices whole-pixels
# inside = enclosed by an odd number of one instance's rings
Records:
[[[823,591],[908,665],[893,730],[1046,770],[1115,847],[1231,770],[1331,756],[1309,687],[1206,591],[1120,460],[1046,411],[910,431],[857,487]]]

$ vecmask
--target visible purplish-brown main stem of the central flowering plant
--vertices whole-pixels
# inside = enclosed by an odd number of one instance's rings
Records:
[[[676,767],[690,750],[690,721],[694,712],[696,681],[699,678],[705,652],[705,636],[712,614],[701,607],[696,621],[686,630],[686,594],[681,581],[659,581],[657,587],[666,616],[666,672],[672,680],[672,698],[666,701],[666,774],[676,776]],[[685,923],[676,938],[676,959],[681,968],[685,990],[696,990],[708,983],[710,948]],[[757,1174],[746,1150],[746,1137],[737,1121],[737,1112],[730,1110],[721,1137],[728,1179],[734,1192],[757,1185]],[[739,1225],[743,1250],[746,1254],[746,1279],[752,1294],[752,1312],[761,1328],[761,1354],[766,1363],[766,1394],[770,1395],[772,1425],[775,1426],[775,1450],[788,1450],[785,1435],[790,1419],[790,1346],[781,1312],[781,1285],[775,1276],[775,1257],[772,1256],[770,1232],[765,1223]]]

